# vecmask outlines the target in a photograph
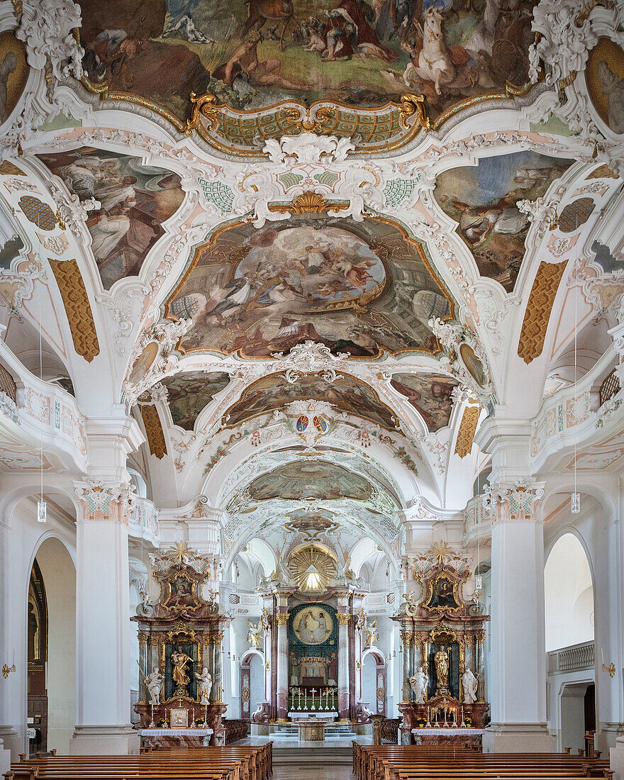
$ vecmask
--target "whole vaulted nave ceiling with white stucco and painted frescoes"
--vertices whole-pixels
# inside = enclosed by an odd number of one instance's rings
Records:
[[[471,498],[495,410],[533,420],[537,450],[566,435],[575,332],[601,345],[576,379],[603,419],[622,8],[282,5],[281,41],[264,0],[0,12],[0,358],[23,410],[0,463],[41,423],[48,470],[85,472],[87,420],[115,407],[154,502],[206,495],[228,544],[350,518],[396,551],[418,497],[449,516]],[[617,468],[617,413],[611,438],[583,417],[581,467]],[[571,441],[540,467],[569,472]]]

